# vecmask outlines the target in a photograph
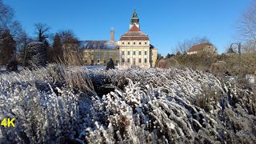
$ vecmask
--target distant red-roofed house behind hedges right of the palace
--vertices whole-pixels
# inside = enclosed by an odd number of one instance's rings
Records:
[[[203,51],[210,52],[210,53],[213,53],[213,54],[217,54],[216,47],[213,44],[211,44],[210,42],[206,42],[206,43],[202,43],[202,44],[199,44],[199,45],[192,46],[190,48],[190,50],[188,50],[186,52],[186,54],[198,54],[199,52],[203,52]]]

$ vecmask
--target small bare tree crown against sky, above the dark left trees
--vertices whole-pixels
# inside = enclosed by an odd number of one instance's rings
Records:
[[[46,38],[50,37],[49,30],[50,26],[47,26],[44,23],[36,23],[34,24],[36,29],[36,34],[38,35],[38,41],[43,42]]]

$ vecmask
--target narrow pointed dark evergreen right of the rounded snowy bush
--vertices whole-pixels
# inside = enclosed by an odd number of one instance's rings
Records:
[[[54,37],[53,58],[54,61],[63,60],[62,39],[58,33]]]

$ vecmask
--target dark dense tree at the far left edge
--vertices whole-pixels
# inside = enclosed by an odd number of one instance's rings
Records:
[[[10,30],[4,30],[0,33],[0,64],[6,65],[15,56],[16,42],[10,34]]]

